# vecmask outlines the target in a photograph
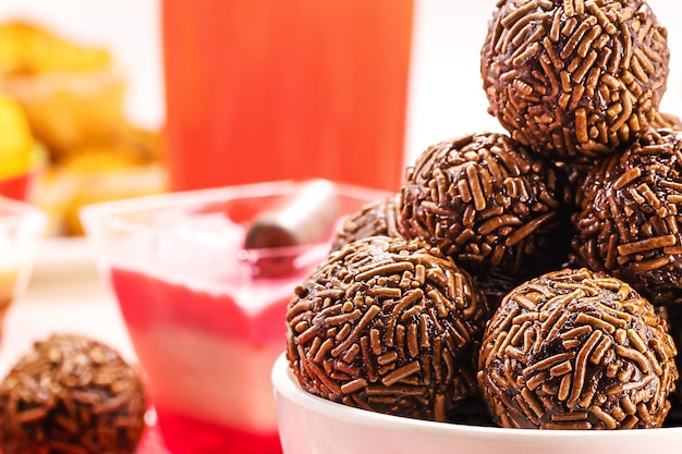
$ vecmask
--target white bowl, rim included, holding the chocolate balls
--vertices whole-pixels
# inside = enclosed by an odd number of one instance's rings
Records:
[[[272,368],[284,454],[672,454],[682,427],[522,430],[429,422],[332,403],[303,391],[284,354]]]

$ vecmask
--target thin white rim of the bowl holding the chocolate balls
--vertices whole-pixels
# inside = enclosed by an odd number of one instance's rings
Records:
[[[390,428],[401,433],[412,432],[427,437],[433,435],[448,439],[467,439],[512,444],[537,444],[539,441],[543,441],[556,445],[560,443],[574,443],[576,440],[581,440],[585,443],[596,441],[599,443],[609,443],[613,440],[618,440],[619,444],[623,444],[629,441],[642,442],[655,439],[660,443],[672,441],[682,442],[682,427],[629,430],[532,430],[435,422],[374,413],[327,401],[304,391],[289,367],[285,352],[281,353],[275,361],[271,371],[271,381],[276,397],[280,394],[294,405],[305,407],[316,415],[346,424],[362,424],[363,426],[375,429]],[[280,403],[278,398],[276,398],[276,402],[279,406]],[[653,447],[655,446],[653,445]]]

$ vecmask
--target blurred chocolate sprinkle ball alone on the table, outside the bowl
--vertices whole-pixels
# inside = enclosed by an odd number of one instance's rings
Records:
[[[146,398],[110,346],[72,334],[36,342],[0,384],[3,454],[133,453]]]

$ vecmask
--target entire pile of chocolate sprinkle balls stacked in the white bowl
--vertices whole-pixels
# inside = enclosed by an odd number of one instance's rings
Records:
[[[509,134],[428,147],[346,220],[289,306],[299,382],[437,421],[478,395],[501,427],[669,424],[682,132],[658,111],[666,29],[643,0],[501,0],[480,58]]]

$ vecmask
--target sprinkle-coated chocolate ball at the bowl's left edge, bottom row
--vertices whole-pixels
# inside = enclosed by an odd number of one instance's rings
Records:
[[[419,241],[360,240],[295,289],[287,355],[301,386],[353,407],[443,421],[476,388],[484,297]]]

